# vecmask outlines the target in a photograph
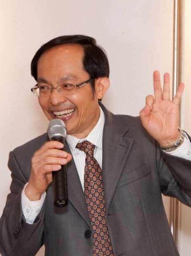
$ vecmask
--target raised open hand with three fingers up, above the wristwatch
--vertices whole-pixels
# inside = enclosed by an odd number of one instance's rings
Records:
[[[184,84],[178,86],[175,97],[170,96],[170,75],[164,74],[163,90],[160,82],[160,73],[153,73],[155,97],[147,96],[146,105],[140,111],[143,127],[147,132],[167,147],[173,145],[180,136],[178,126],[180,125],[180,99],[184,91]]]

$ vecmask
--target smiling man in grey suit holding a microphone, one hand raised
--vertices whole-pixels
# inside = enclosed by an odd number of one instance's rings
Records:
[[[191,145],[178,128],[184,85],[171,101],[169,74],[162,91],[155,71],[155,97],[140,118],[113,115],[99,102],[109,87],[107,57],[80,35],[43,45],[31,73],[44,114],[66,125],[66,152],[43,134],[10,153],[2,255],[35,255],[43,243],[47,256],[179,255],[161,192],[191,205]],[[65,164],[69,204],[58,208],[52,171]]]

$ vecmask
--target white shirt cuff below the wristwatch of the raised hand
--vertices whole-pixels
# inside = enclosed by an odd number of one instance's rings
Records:
[[[162,150],[162,151],[171,156],[178,156],[187,160],[191,160],[191,142],[184,131],[183,131],[183,134],[185,138],[184,138],[184,142],[182,143],[182,145],[180,145],[180,147],[178,147],[177,149],[171,152],[166,152],[165,150]]]

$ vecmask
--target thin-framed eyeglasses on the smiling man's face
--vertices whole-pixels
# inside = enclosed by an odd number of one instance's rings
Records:
[[[89,82],[92,82],[95,78],[91,78],[85,82],[80,82],[77,85],[65,83],[63,85],[58,85],[57,87],[52,87],[49,85],[35,85],[33,88],[31,88],[31,91],[34,95],[38,97],[47,97],[50,96],[51,91],[56,89],[58,93],[62,95],[71,95],[78,91],[78,88],[81,88],[84,85],[87,85]]]

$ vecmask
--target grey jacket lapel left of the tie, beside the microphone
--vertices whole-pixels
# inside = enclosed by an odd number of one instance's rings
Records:
[[[71,154],[67,144],[66,151]],[[87,204],[84,197],[84,191],[82,189],[78,171],[73,159],[67,164],[67,183],[68,199],[70,203],[76,208],[82,218],[91,227],[91,222],[87,211]]]

